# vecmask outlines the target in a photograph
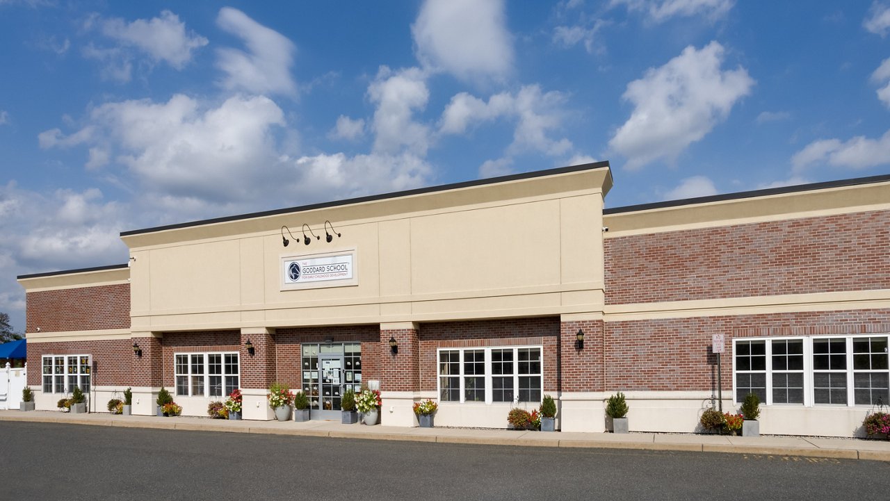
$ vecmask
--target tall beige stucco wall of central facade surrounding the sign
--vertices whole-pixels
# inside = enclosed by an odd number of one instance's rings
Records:
[[[134,331],[603,310],[608,167],[126,235]],[[343,236],[325,241],[324,222]],[[303,222],[320,239],[304,246]],[[280,227],[293,239],[282,246]],[[307,231],[308,234],[308,231]],[[283,257],[354,253],[345,287],[282,290]]]

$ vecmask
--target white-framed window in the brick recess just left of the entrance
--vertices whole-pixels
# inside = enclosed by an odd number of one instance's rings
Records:
[[[238,353],[176,353],[176,394],[225,397],[239,388]]]

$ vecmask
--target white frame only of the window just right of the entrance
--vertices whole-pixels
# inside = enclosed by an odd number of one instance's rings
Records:
[[[538,354],[540,356],[540,372],[534,374],[520,374],[519,373],[519,351],[523,349],[528,350],[538,350]],[[491,373],[491,351],[492,350],[513,350],[514,354],[514,369],[513,369],[513,390],[514,390],[514,400],[513,402],[495,402],[494,400],[494,392],[492,389],[492,378],[494,375]],[[477,377],[478,375],[465,375],[464,374],[464,353],[465,352],[484,352],[484,360],[485,360],[485,400],[478,401],[466,401],[465,400],[465,380],[466,377]],[[449,375],[441,375],[440,374],[440,360],[441,360],[441,352],[458,352],[458,364],[459,364],[459,372],[458,374],[449,374]],[[501,375],[498,375],[500,377]],[[540,378],[540,399],[536,400],[536,402],[519,402],[519,378],[522,376],[538,376]],[[441,378],[442,377],[457,377],[459,384],[459,395],[460,400],[441,400]],[[455,347],[455,348],[439,348],[436,350],[436,395],[438,396],[438,400],[440,400],[440,405],[449,405],[449,404],[479,404],[479,405],[491,405],[491,404],[504,404],[504,405],[513,405],[514,403],[540,403],[541,400],[544,399],[544,347],[540,344],[526,344],[526,345],[511,345],[511,346],[464,346],[464,347]]]

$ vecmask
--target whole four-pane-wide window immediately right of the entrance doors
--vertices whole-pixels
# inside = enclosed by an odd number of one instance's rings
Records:
[[[451,402],[539,402],[540,347],[439,351],[439,398]]]

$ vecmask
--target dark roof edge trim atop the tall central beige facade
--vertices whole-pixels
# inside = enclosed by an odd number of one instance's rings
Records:
[[[232,222],[239,221],[245,219],[254,219],[257,217],[266,217],[270,215],[279,215],[279,214],[295,214],[310,210],[316,209],[325,209],[329,207],[336,206],[348,206],[351,204],[360,204],[363,202],[374,202],[376,200],[385,200],[388,198],[400,198],[400,197],[409,197],[411,195],[422,195],[425,193],[433,193],[436,191],[447,191],[447,190],[459,190],[461,188],[471,188],[473,186],[482,186],[485,184],[495,184],[498,182],[511,182],[511,181],[520,181],[523,179],[531,179],[535,177],[543,177],[546,175],[555,175],[555,174],[568,174],[578,171],[587,171],[594,170],[603,167],[608,167],[609,161],[604,160],[602,162],[594,162],[592,164],[583,164],[580,166],[568,166],[568,167],[556,167],[554,169],[546,169],[543,171],[532,171],[529,173],[522,174],[510,174],[499,177],[491,177],[487,179],[477,179],[473,181],[465,181],[465,182],[454,182],[451,184],[441,184],[438,186],[429,186],[426,188],[416,188],[414,190],[404,190],[404,191],[394,191],[392,193],[384,193],[382,195],[369,195],[367,197],[359,197],[359,198],[347,198],[345,200],[336,200],[333,202],[321,202],[318,204],[310,204],[307,206],[296,206],[296,207],[288,207],[283,209],[272,209],[270,211],[262,211],[255,212],[250,214],[239,214],[239,215],[230,215],[225,217],[217,217],[213,219],[205,219],[201,221],[192,221],[192,222],[181,222],[178,224],[169,224],[166,226],[156,226],[154,228],[146,228],[144,230],[130,230],[130,231],[122,231],[120,233],[121,237],[127,237],[130,235],[140,235],[142,233],[154,233],[156,231],[164,231],[164,230],[181,230],[183,228],[191,228],[194,226],[203,226],[205,224],[214,224],[219,222]]]

